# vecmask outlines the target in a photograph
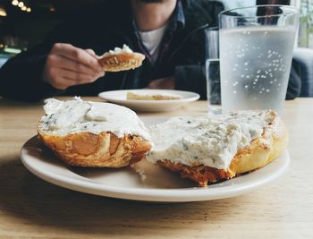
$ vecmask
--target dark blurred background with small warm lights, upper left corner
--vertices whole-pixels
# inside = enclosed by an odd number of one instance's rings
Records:
[[[72,13],[101,0],[0,0],[0,67],[42,41]]]

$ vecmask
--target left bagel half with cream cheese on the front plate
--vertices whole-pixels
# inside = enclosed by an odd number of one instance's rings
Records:
[[[151,148],[135,112],[109,103],[47,99],[38,137],[72,166],[123,167]]]

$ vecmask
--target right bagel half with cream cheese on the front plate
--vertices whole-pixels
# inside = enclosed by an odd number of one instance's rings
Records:
[[[277,158],[288,136],[273,110],[172,118],[150,129],[150,162],[206,186],[233,178]]]

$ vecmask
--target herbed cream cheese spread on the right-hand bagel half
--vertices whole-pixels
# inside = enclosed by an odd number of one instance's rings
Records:
[[[154,146],[147,159],[153,163],[167,159],[174,164],[225,169],[237,150],[249,146],[272,120],[269,111],[171,118],[150,127]]]

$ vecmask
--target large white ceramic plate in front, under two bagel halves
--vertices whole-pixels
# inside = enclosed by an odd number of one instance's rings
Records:
[[[165,118],[143,118],[145,124]],[[273,182],[290,164],[287,151],[273,162],[247,175],[220,184],[196,187],[165,168],[141,161],[134,168],[104,169],[66,166],[37,137],[21,149],[21,161],[31,173],[64,188],[79,192],[136,201],[210,201],[234,197]],[[146,178],[142,180],[144,172]]]

